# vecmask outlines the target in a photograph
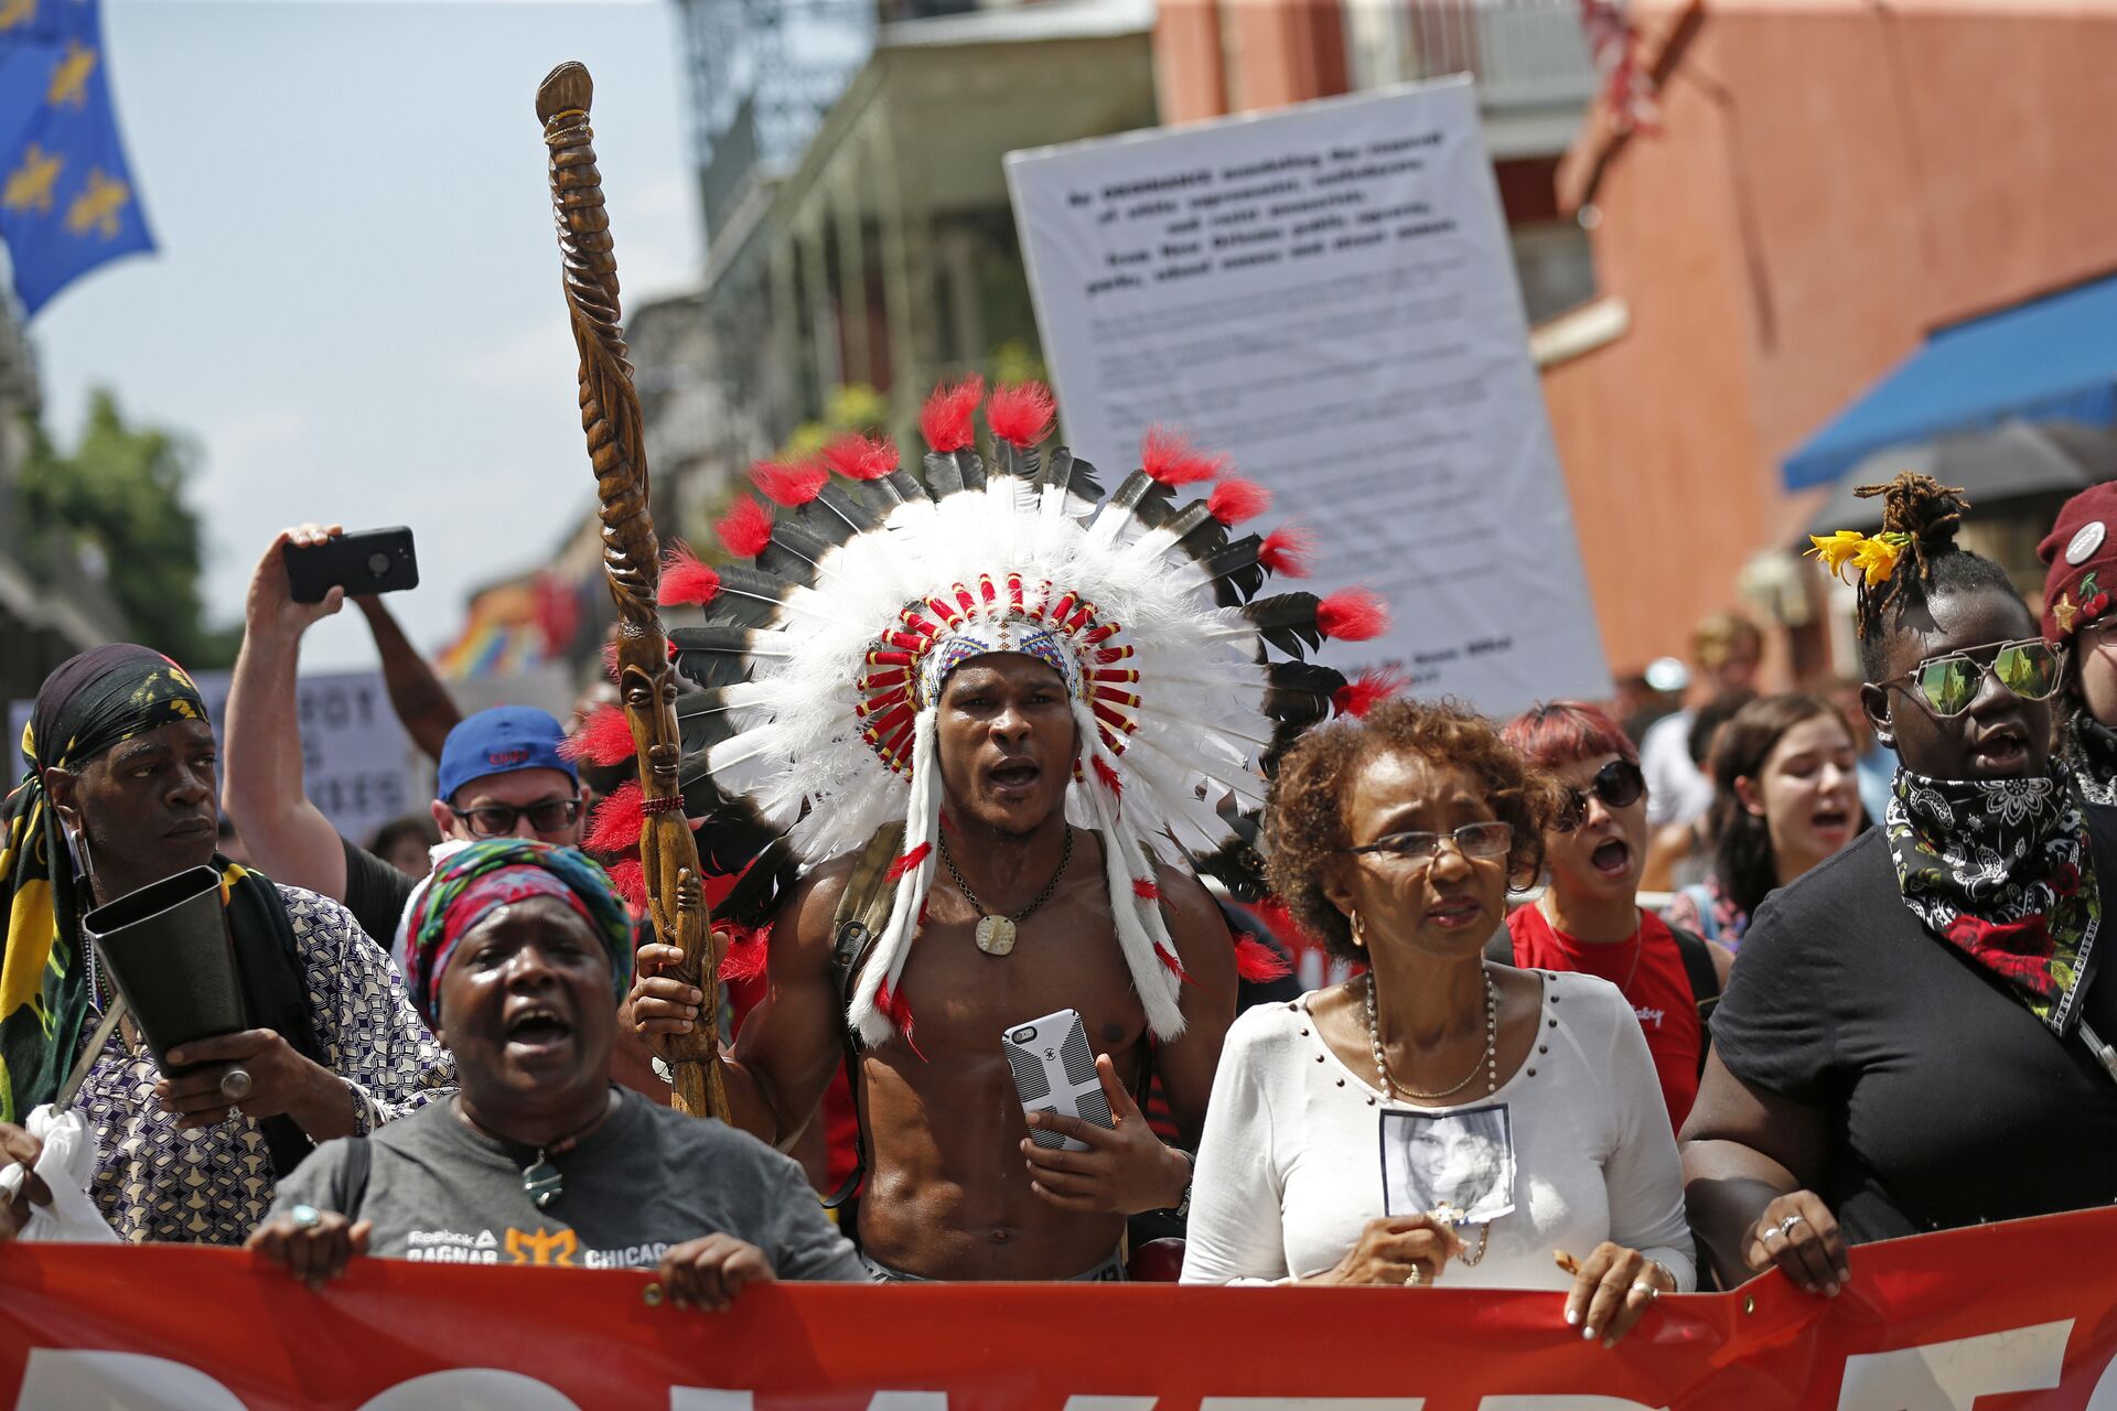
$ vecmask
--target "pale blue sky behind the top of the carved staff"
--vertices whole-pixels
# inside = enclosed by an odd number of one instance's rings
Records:
[[[627,307],[703,264],[675,6],[106,0],[104,30],[161,250],[30,324],[47,427],[72,442],[108,385],[197,444],[216,622],[284,525],[411,525],[396,607],[447,645],[468,588],[593,499],[533,110],[553,63],[595,76]],[[358,613],[309,637],[309,666],[368,662]]]

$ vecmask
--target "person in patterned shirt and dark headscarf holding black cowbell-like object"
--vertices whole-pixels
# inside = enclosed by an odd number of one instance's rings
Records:
[[[61,664],[21,740],[0,853],[0,1147],[72,1098],[99,1153],[91,1195],[127,1240],[239,1244],[318,1140],[366,1132],[453,1083],[387,956],[334,901],[214,853],[214,732],[184,671],[135,645]],[[163,1077],[83,941],[80,916],[214,863],[254,1028],[169,1053]],[[239,1075],[237,1075],[239,1073]],[[233,1096],[231,1096],[233,1094]],[[0,1238],[19,1212],[0,1212]]]

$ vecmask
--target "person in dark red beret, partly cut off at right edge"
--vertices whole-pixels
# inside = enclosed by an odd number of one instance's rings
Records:
[[[2070,647],[2073,671],[2060,698],[2060,757],[2089,804],[2117,804],[2117,484],[2094,484],[2058,512],[2037,546],[2043,578],[2043,635]]]

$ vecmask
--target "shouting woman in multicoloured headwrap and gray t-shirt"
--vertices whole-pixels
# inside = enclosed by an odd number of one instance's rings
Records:
[[[864,1280],[790,1157],[610,1081],[631,958],[631,914],[582,853],[491,840],[445,859],[406,960],[464,1087],[318,1151],[252,1248],[311,1284],[354,1254],[658,1267],[675,1303],[709,1307],[773,1278]]]

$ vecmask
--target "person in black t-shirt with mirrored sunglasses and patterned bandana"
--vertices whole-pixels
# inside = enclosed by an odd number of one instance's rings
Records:
[[[1683,1128],[1721,1280],[1829,1295],[1850,1244],[2117,1199],[2117,986],[2089,967],[2117,814],[2051,759],[2064,656],[1956,546],[1960,491],[1861,493],[1882,533],[1816,548],[1861,575],[1888,812],[1757,908]]]

